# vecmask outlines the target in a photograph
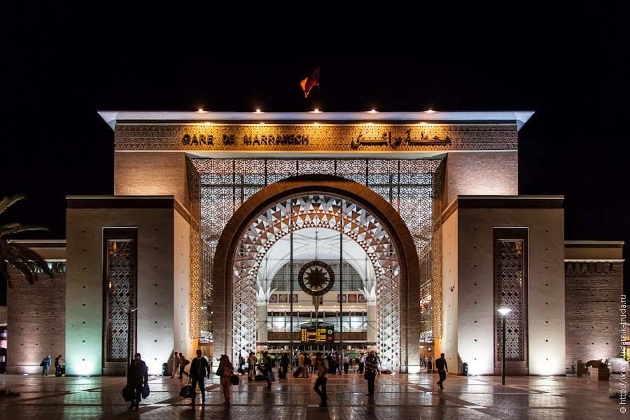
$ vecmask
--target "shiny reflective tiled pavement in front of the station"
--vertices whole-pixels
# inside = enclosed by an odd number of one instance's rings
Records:
[[[223,407],[218,378],[211,379],[206,405],[193,410],[179,397],[178,379],[151,377],[151,395],[138,411],[127,411],[120,391],[124,378],[0,375],[0,388],[20,393],[0,397],[0,419],[624,419],[610,382],[577,377],[449,375],[444,391],[435,374],[377,377],[374,398],[365,395],[361,375],[331,376],[328,407],[318,407],[314,378],[265,383],[241,379],[232,386],[232,407]],[[197,402],[200,398],[197,397]]]

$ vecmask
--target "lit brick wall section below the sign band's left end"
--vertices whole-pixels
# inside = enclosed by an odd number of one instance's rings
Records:
[[[114,195],[173,195],[188,208],[186,154],[114,153]]]

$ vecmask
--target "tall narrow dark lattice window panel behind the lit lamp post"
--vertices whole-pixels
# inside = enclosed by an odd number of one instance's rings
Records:
[[[510,308],[505,317],[505,360],[525,360],[524,239],[498,239],[495,244],[494,313],[497,343],[503,340],[501,316],[496,309]],[[501,360],[497,346],[496,361]]]

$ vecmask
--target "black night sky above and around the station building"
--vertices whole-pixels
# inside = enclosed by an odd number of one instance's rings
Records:
[[[565,195],[566,239],[630,242],[630,22],[627,10],[590,7],[336,38],[322,33],[320,15],[309,21],[317,36],[287,27],[277,44],[263,39],[274,25],[223,31],[129,8],[11,10],[2,18],[0,197],[27,200],[3,221],[64,238],[66,195],[113,193],[113,132],[97,110],[533,110],[519,136],[519,193]],[[433,53],[437,38],[446,46]],[[315,66],[321,92],[304,100],[298,82]]]

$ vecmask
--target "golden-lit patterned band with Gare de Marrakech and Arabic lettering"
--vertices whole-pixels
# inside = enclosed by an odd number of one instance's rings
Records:
[[[116,150],[516,150],[513,124],[118,124]]]

